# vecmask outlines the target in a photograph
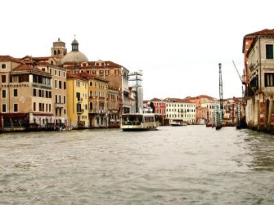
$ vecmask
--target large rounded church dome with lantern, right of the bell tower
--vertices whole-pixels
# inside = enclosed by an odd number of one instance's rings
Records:
[[[72,51],[66,53],[66,55],[62,58],[61,63],[65,64],[67,62],[84,62],[88,61],[88,57],[84,55],[84,53],[79,51],[79,43],[77,40],[73,40],[71,43]]]

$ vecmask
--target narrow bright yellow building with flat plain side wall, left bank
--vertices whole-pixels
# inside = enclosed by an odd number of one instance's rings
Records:
[[[88,128],[88,81],[66,74],[67,114],[72,128]]]

